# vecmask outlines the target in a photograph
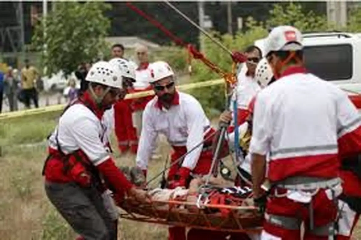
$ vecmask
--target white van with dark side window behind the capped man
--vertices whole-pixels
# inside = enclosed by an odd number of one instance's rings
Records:
[[[255,41],[262,51],[264,41]],[[332,81],[350,95],[361,93],[361,33],[307,33],[303,45],[308,71]]]

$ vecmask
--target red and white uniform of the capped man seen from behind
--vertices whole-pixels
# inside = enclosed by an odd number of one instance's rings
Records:
[[[276,82],[257,95],[250,152],[270,153],[271,182],[290,177],[336,178],[340,166],[338,154],[360,150],[360,137],[359,115],[347,95],[332,83],[306,73],[302,67],[286,69]],[[280,189],[279,193],[287,193],[286,196],[271,198],[266,214],[307,216],[308,209],[303,203],[312,199],[314,226],[322,227],[336,216],[329,192],[320,190],[311,197],[303,191]],[[265,222],[262,239],[291,239],[297,234],[299,231]]]

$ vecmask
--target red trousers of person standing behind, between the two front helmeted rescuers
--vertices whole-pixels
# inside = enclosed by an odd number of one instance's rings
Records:
[[[119,150],[124,152],[130,147],[131,152],[136,154],[138,138],[132,122],[130,103],[131,100],[119,100],[114,104],[115,133]]]

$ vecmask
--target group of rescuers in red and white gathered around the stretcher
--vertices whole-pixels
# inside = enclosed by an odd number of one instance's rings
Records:
[[[117,239],[116,206],[124,197],[144,204],[152,200],[116,166],[112,131],[119,150],[136,154],[134,164],[145,178],[156,138],[165,135],[173,149],[167,189],[188,189],[192,179],[209,173],[219,136],[199,101],[175,88],[168,63],[148,63],[142,46],[136,66],[122,58],[123,51],[114,45],[113,59],[91,65],[78,98],[48,139],[45,191],[79,240]],[[252,188],[264,216],[262,233],[169,227],[169,240],[350,239],[361,212],[361,118],[355,105],[337,86],[307,72],[295,27],[275,27],[264,52],[250,46],[233,59],[245,60],[245,68],[232,97],[237,107],[230,105],[219,117],[229,134],[221,157],[239,142],[236,160],[243,174],[234,184]],[[124,99],[148,89],[155,96]],[[265,180],[268,191],[262,188]]]

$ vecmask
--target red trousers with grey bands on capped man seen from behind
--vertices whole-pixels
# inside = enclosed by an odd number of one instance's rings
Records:
[[[284,190],[278,190],[278,194],[285,193]],[[328,225],[336,219],[337,206],[334,201],[327,198],[325,190],[319,190],[312,198],[313,206],[313,225],[316,229]],[[304,239],[307,240],[327,240],[328,231],[325,236],[317,236],[308,229],[309,226],[309,205],[299,203],[288,199],[287,197],[277,198],[272,196],[267,202],[266,213],[288,218],[298,218],[305,223]],[[291,221],[288,221],[290,223]],[[287,223],[285,223],[287,224]],[[300,239],[300,229],[286,229],[286,227],[276,226],[267,221],[264,222],[264,231],[261,239]],[[327,228],[328,229],[328,228]]]

